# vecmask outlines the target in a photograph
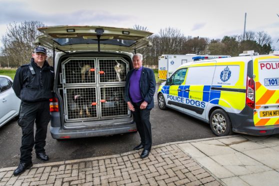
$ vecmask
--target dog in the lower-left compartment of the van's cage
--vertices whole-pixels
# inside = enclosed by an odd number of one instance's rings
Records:
[[[74,89],[72,91],[72,100],[76,103],[76,109],[79,111],[80,116],[83,115],[83,110],[85,110],[87,116],[91,116],[88,109],[90,101],[82,90],[78,88]]]

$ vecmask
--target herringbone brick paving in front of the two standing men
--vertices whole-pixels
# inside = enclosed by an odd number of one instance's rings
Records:
[[[0,169],[1,185],[222,185],[176,144],[122,154],[35,164],[19,176]]]

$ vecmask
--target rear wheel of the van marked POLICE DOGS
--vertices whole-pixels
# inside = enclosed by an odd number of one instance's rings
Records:
[[[217,136],[224,136],[232,133],[231,122],[227,113],[222,109],[214,110],[210,115],[210,128]]]

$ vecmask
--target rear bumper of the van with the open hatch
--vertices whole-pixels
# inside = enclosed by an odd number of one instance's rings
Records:
[[[86,128],[86,129],[63,129],[50,126],[50,133],[54,139],[82,138],[104,135],[114,135],[137,131],[135,122],[112,127]]]

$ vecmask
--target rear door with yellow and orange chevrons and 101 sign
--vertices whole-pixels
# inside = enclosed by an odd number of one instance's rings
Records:
[[[279,124],[279,56],[253,57],[255,126]]]

